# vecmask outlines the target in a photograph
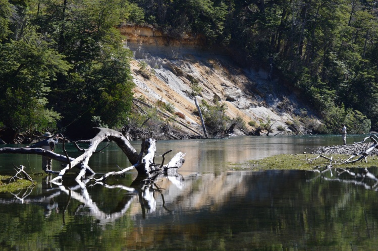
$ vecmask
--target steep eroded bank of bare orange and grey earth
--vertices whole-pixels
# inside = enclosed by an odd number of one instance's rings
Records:
[[[251,120],[257,125],[271,120],[275,123],[273,129],[285,128],[287,121],[294,120],[293,114],[304,108],[293,92],[280,80],[271,80],[262,67],[239,68],[229,56],[201,49],[200,38],[168,40],[150,27],[124,26],[120,30],[125,36],[125,46],[134,52],[131,70],[136,84],[135,97],[150,104],[157,100],[172,103],[176,111],[185,115],[177,119],[199,133],[200,120],[193,114],[196,107],[191,98],[193,83],[202,88],[198,101],[226,103],[227,115],[241,116],[248,130],[252,130],[248,126]],[[139,74],[140,61],[148,64],[149,78]],[[285,109],[280,108],[283,106]]]

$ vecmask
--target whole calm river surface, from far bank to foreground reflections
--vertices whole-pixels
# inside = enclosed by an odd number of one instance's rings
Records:
[[[106,184],[77,183],[76,174],[62,185],[34,177],[35,187],[0,194],[0,249],[376,250],[374,179],[336,171],[230,171],[234,163],[340,143],[340,136],[158,141],[157,154],[173,149],[169,159],[182,151],[186,162],[179,175],[153,186],[141,187],[136,172]],[[139,151],[140,142],[132,144]],[[12,163],[41,170],[39,156],[3,154],[0,174],[12,174]],[[89,165],[104,173],[130,163],[111,143]],[[378,175],[377,168],[369,172]]]

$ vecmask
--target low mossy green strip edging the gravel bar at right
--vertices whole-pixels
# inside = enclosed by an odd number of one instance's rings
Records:
[[[310,159],[313,159],[319,155],[317,154],[280,154],[259,160],[250,160],[242,164],[233,164],[229,169],[232,170],[313,170],[319,166],[326,166],[330,164],[330,161],[325,158],[317,158],[311,163],[308,163]],[[325,155],[331,157],[330,155]],[[342,164],[342,160],[348,159],[349,155],[333,154],[332,164],[336,167],[375,167],[378,166],[377,156],[368,156],[367,163],[358,161],[352,164]],[[335,161],[337,164],[335,164]]]

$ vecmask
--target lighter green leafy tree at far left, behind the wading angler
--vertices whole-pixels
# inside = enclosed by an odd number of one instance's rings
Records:
[[[0,44],[0,121],[16,132],[55,129],[60,114],[47,108],[49,83],[70,66],[48,37],[25,27],[23,37]]]

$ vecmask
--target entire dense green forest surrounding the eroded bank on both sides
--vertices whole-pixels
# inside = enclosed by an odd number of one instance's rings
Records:
[[[371,0],[0,0],[0,129],[13,136],[128,122],[133,82],[117,27],[201,35],[302,90],[324,127],[378,130]],[[238,56],[239,55],[239,56]],[[275,76],[273,76],[275,75]],[[80,130],[81,129],[81,130]]]

